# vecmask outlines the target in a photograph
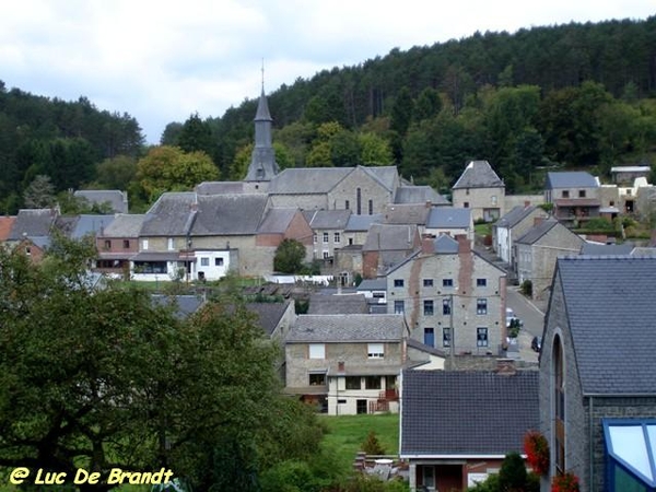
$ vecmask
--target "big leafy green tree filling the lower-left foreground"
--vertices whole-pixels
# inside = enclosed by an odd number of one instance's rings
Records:
[[[134,285],[93,288],[92,257],[91,238],[58,236],[36,266],[0,249],[0,466],[105,480],[165,467],[197,490],[249,491],[314,456],[316,417],[281,395],[278,350],[238,297],[179,319]]]

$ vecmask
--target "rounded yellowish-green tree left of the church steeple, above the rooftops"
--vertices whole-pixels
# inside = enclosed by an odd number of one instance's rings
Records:
[[[137,163],[136,179],[149,200],[164,191],[186,191],[219,178],[219,169],[204,152],[185,153],[176,147],[154,147]]]

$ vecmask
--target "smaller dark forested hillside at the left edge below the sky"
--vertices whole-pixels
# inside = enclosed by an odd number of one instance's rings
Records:
[[[105,159],[137,157],[143,136],[128,114],[101,112],[86,98],[65,102],[0,81],[0,204],[14,213],[23,192],[38,175],[49,176],[54,191],[89,186]]]

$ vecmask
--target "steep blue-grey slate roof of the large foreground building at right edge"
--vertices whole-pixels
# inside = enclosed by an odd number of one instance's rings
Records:
[[[554,282],[584,394],[656,395],[656,258],[560,258]]]

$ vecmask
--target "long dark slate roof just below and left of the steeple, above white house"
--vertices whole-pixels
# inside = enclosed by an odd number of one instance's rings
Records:
[[[263,194],[199,196],[191,235],[256,234],[267,200]]]

